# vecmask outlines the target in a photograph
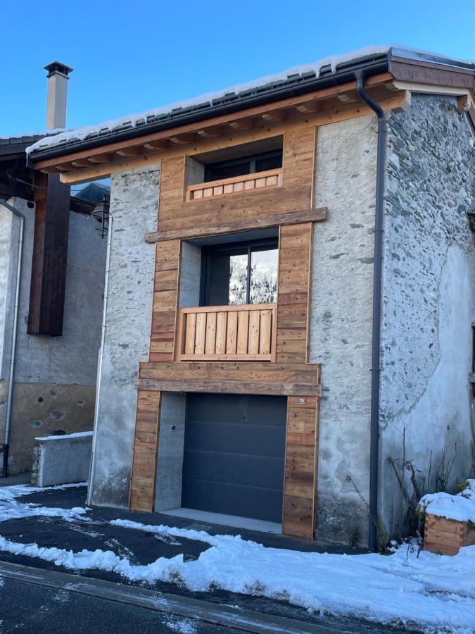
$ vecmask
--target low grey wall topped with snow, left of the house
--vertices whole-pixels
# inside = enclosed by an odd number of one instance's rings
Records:
[[[89,478],[92,432],[35,438],[32,485],[49,487]]]

